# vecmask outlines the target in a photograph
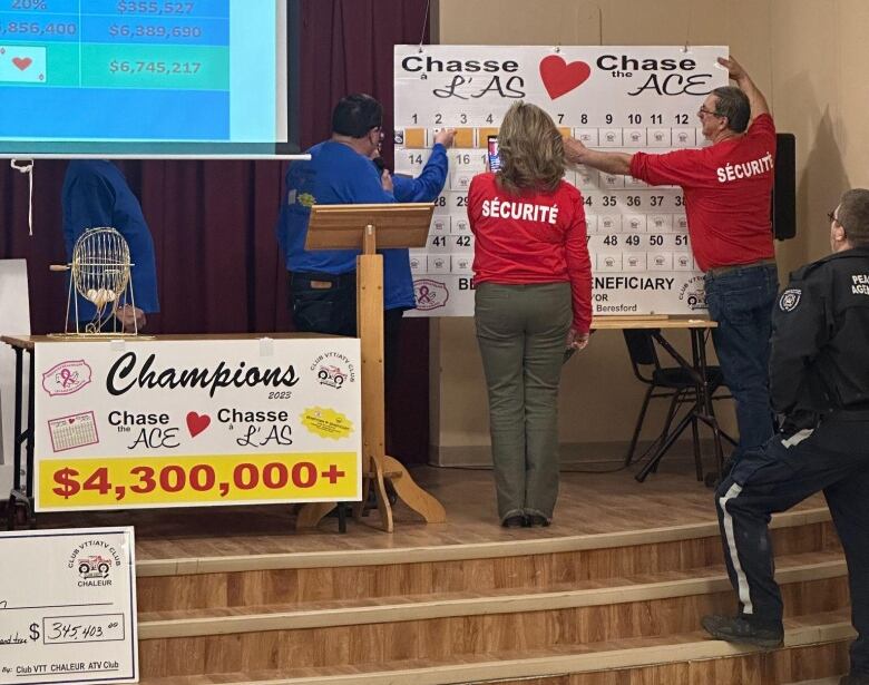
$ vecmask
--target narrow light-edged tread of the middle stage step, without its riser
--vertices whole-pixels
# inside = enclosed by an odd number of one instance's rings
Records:
[[[785,555],[777,559],[780,583],[847,575],[839,552]],[[192,637],[273,629],[302,629],[401,620],[566,609],[725,593],[723,566],[480,593],[437,593],[233,608],[139,611],[139,638]]]

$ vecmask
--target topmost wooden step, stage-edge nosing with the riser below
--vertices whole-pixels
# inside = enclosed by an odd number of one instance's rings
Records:
[[[780,525],[772,537],[780,556],[840,549],[826,510],[801,511],[777,520]],[[655,541],[655,536],[631,532],[487,542],[468,545],[467,549],[458,546],[343,550],[295,557],[252,555],[223,560],[219,566],[218,560],[176,559],[178,575],[163,575],[169,571],[165,561],[144,568],[137,565],[138,606],[140,611],[152,614],[430,593],[545,589],[558,584],[577,585],[722,564],[716,526],[662,529],[657,537],[661,539]],[[618,542],[628,547],[617,547]],[[419,560],[438,555],[442,560]],[[225,570],[216,571],[217,568]]]

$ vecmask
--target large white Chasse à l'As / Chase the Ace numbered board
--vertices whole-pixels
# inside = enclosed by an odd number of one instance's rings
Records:
[[[419,174],[437,129],[458,129],[428,244],[411,251],[412,315],[473,313],[467,189],[510,105],[538,105],[564,135],[593,148],[697,147],[704,144],[697,110],[728,84],[716,63],[726,55],[725,47],[397,46],[396,170]],[[586,168],[568,170],[566,179],[585,198],[596,316],[705,310],[680,188]]]

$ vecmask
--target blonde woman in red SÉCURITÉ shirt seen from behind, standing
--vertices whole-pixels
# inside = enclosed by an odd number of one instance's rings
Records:
[[[501,525],[548,526],[558,496],[558,383],[565,350],[588,343],[592,266],[583,197],[539,107],[516,102],[501,166],[468,192],[475,322],[489,392]]]

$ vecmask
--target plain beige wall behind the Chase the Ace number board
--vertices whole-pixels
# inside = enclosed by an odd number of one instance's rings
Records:
[[[866,27],[866,0],[439,0],[432,41],[729,45],[767,94],[779,130],[797,135],[799,237],[778,247],[785,275],[828,251],[823,216],[842,189],[869,185]],[[431,374],[433,450],[446,462],[482,460],[486,392],[470,320],[433,322]],[[622,449],[642,392],[621,333],[596,334],[565,371],[563,451]]]

